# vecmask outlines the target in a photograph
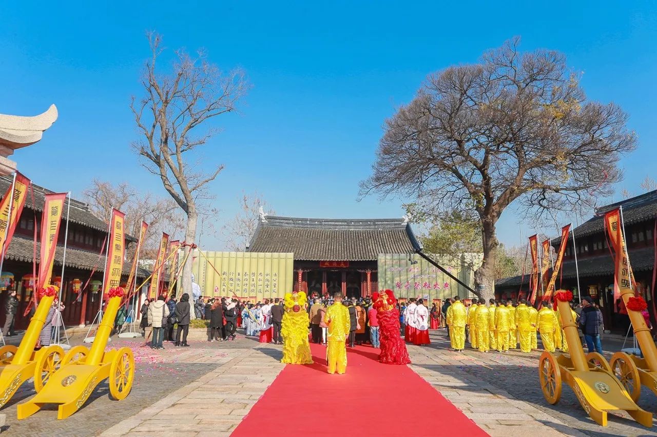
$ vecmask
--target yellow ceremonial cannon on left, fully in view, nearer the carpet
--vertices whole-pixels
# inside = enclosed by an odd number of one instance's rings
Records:
[[[69,350],[60,369],[51,375],[48,385],[34,398],[18,405],[18,419],[30,417],[45,404],[60,404],[57,419],[66,419],[78,411],[105,378],[109,378],[112,398],[122,400],[129,394],[135,377],[132,350],[120,348],[105,352],[116,312],[121,305],[123,289],[111,289],[109,295],[105,314],[91,348],[88,352],[85,346]]]

